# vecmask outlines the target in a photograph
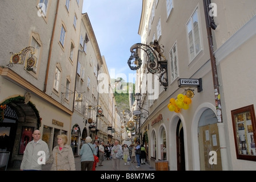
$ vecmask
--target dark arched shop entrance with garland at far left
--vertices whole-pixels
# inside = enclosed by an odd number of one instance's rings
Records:
[[[22,96],[11,97],[0,106],[0,135],[9,134],[8,146],[1,147],[1,151],[10,151],[9,167],[19,167],[26,144],[33,139],[33,131],[41,126],[39,111],[32,102],[25,103]]]

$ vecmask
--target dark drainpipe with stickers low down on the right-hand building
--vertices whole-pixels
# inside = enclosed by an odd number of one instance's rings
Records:
[[[217,126],[219,130],[219,144],[221,150],[221,162],[222,162],[222,170],[227,171],[229,170],[228,162],[227,162],[227,147],[226,147],[226,140],[225,140],[225,126],[222,120],[222,110],[221,110],[221,97],[219,94],[219,82],[218,82],[218,72],[217,72],[217,65],[216,59],[214,56],[213,50],[213,35],[211,32],[211,28],[213,30],[216,29],[216,25],[214,23],[213,16],[209,15],[209,5],[211,4],[211,0],[203,0],[203,6],[205,8],[205,20],[206,20],[206,29],[207,29],[207,37],[209,43],[209,51],[210,51],[210,60],[211,60],[211,71],[213,73],[213,86],[214,86],[214,94],[215,94],[215,106],[216,106],[216,113],[217,113]]]

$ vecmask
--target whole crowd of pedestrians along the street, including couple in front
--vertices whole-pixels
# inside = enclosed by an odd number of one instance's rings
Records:
[[[58,135],[58,145],[49,152],[47,143],[40,139],[41,133],[35,130],[32,134],[33,140],[27,143],[23,153],[20,169],[22,171],[40,171],[42,164],[51,163],[51,171],[75,171],[75,161],[72,148],[67,144],[67,135]],[[40,153],[40,154],[39,154]],[[38,155],[40,156],[38,158]],[[112,160],[113,170],[119,171],[120,163],[123,160],[125,165],[137,162],[137,168],[146,161],[146,148],[137,141],[136,144],[119,144],[118,140],[114,144],[104,142],[98,143],[91,137],[86,137],[85,143],[79,151],[81,156],[81,171],[93,171],[98,166],[103,166],[103,160]],[[98,160],[95,161],[95,157]]]

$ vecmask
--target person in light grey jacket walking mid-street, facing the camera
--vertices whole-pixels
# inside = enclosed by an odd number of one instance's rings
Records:
[[[113,170],[119,171],[120,170],[120,160],[123,157],[123,150],[122,150],[122,146],[119,144],[118,140],[115,140],[115,144],[111,150],[111,156],[112,156]]]

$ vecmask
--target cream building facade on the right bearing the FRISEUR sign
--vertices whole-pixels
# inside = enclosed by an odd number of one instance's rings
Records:
[[[235,115],[237,109],[254,105],[254,19],[254,1],[143,1],[141,43],[157,51],[150,43],[158,41],[157,56],[167,60],[163,75],[168,79],[165,90],[160,74],[147,73],[147,53],[139,52],[136,92],[142,94],[139,104],[149,117],[139,122],[137,133],[151,166],[161,161],[171,171],[255,169],[255,122],[248,119],[250,130],[237,129],[246,122]],[[200,84],[182,84],[182,79]],[[190,98],[186,105],[185,96]],[[249,115],[255,117],[254,109]]]

